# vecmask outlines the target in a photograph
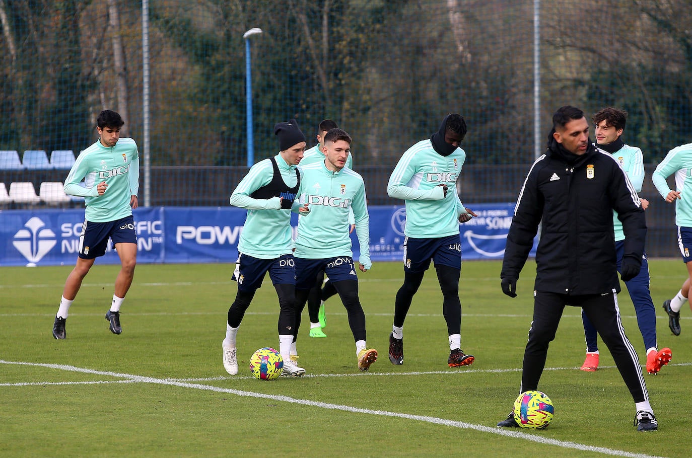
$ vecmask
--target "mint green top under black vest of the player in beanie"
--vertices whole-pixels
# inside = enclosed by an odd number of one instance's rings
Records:
[[[284,183],[289,187],[295,186],[298,182],[295,165],[286,163],[281,154],[274,156],[274,159]],[[274,167],[271,165],[271,159],[264,159],[250,168],[230,195],[230,205],[248,210],[243,230],[240,232],[238,251],[259,259],[274,259],[289,255],[293,250],[291,210],[281,208],[279,197],[255,199],[250,196],[260,187],[268,185],[273,176]]]

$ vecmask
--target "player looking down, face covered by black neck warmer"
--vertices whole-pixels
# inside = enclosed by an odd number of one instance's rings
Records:
[[[406,201],[406,228],[403,242],[403,285],[394,302],[394,323],[390,334],[390,361],[403,364],[403,321],[418,291],[423,276],[435,262],[437,281],[442,290],[442,314],[447,322],[449,367],[473,363],[464,354],[462,341],[462,303],[459,277],[462,248],[459,223],[476,214],[459,201],[456,182],[466,152],[459,144],[466,136],[466,122],[453,113],[442,120],[439,131],[428,140],[410,147],[399,159],[390,176],[390,197]]]

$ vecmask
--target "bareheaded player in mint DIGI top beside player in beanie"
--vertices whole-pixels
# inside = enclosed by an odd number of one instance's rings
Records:
[[[362,272],[370,269],[370,231],[363,177],[345,168],[351,136],[342,129],[327,132],[322,145],[325,160],[302,167],[300,202],[310,214],[298,221],[295,240],[295,329],[291,358],[298,358],[300,315],[318,272],[324,271],[334,284],[348,315],[356,340],[358,369],[367,371],[377,359],[377,350],[365,344],[365,313],[358,298],[358,276],[349,237],[349,209],[353,210]]]

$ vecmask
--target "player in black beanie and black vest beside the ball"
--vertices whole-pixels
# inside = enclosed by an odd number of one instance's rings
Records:
[[[291,239],[291,207],[300,186],[301,173],[295,166],[305,151],[305,136],[295,119],[274,126],[280,152],[253,165],[230,196],[230,204],[246,208],[248,215],[238,243],[238,260],[233,280],[238,291],[228,309],[224,368],[238,373],[236,336],[255,292],[269,273],[279,297],[279,353],[284,359],[282,376],[302,376],[305,369],[290,358],[295,323],[295,268]],[[307,208],[300,209],[307,212]]]

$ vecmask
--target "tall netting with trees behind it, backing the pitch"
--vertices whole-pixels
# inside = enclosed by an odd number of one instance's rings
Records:
[[[612,105],[644,152],[650,226],[674,224],[650,169],[692,137],[689,0],[152,0],[146,22],[141,1],[0,0],[0,23],[0,149],[78,154],[96,114],[116,110],[151,167],[143,203],[227,205],[248,161],[243,35],[258,27],[254,161],[277,152],[275,122],[296,118],[312,145],[331,118],[370,202],[394,203],[397,158],[459,112],[462,199],[512,201],[557,107]],[[0,180],[38,192],[65,175]]]

